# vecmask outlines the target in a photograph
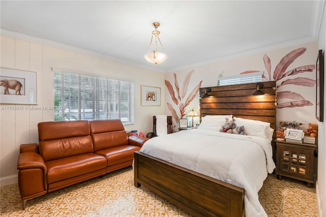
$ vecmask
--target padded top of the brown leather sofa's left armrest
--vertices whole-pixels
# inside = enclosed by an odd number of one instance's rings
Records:
[[[46,174],[46,165],[42,156],[36,152],[23,152],[18,155],[17,169],[40,168]]]

